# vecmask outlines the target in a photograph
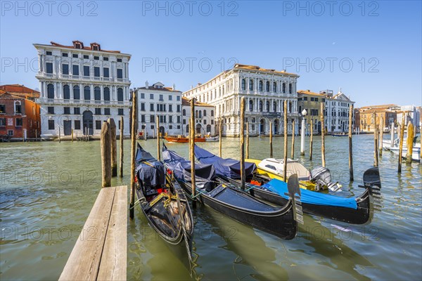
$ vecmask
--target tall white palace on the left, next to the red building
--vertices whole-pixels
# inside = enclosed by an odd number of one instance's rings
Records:
[[[107,51],[98,43],[71,46],[34,44],[39,57],[41,131],[44,138],[88,134],[100,136],[102,123],[115,119],[129,136],[129,60],[131,55]]]

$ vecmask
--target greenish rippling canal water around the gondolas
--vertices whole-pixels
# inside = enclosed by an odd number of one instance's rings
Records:
[[[389,139],[390,136],[385,136]],[[309,137],[307,138],[309,142]],[[155,141],[140,141],[151,153]],[[269,157],[269,138],[250,138],[250,157]],[[283,138],[274,138],[283,156]],[[289,138],[290,143],[290,138]],[[217,153],[218,143],[200,143]],[[188,156],[187,144],[168,144]],[[309,169],[321,164],[321,138],[300,157]],[[0,144],[0,279],[56,280],[101,188],[100,143]],[[347,138],[326,137],[326,166],[343,184],[340,195],[363,192],[362,173],[373,165],[373,136],[353,136],[354,183],[349,183]],[[130,148],[124,141],[124,178],[129,185]],[[238,138],[224,138],[224,157],[238,158]],[[290,145],[289,145],[290,156]],[[298,236],[286,241],[222,216],[208,207],[193,210],[193,279],[197,280],[421,280],[422,165],[397,156],[380,158],[381,209],[370,224],[351,226],[305,214]],[[189,271],[146,223],[139,207],[128,223],[129,280],[189,280]]]

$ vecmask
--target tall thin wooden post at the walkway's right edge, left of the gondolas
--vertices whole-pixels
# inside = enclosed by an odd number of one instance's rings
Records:
[[[138,110],[138,92],[134,91],[132,98],[132,128],[131,128],[131,156],[130,156],[130,204],[129,204],[129,218],[134,218],[134,204],[135,204],[135,157],[136,157],[136,123],[138,122],[136,111]]]

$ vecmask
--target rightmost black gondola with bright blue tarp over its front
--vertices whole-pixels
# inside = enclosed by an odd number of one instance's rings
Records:
[[[205,150],[206,152],[206,150]],[[202,148],[195,147],[195,155],[199,162],[210,163],[211,159],[215,161],[216,167],[222,167],[224,169],[216,169],[219,178],[229,181],[230,183],[238,183],[236,160],[234,159],[222,159],[217,156],[204,157]],[[231,166],[227,166],[229,164]],[[251,163],[253,164],[253,163]],[[252,168],[251,168],[252,169]],[[230,173],[227,171],[230,170]],[[235,176],[231,176],[234,174]],[[283,205],[286,204],[289,197],[285,195],[287,192],[287,183],[280,181],[277,178],[266,178],[259,176],[255,178],[254,175],[246,174],[249,181],[252,183],[259,182],[259,185],[248,183],[248,188],[251,195],[270,202],[272,204]],[[377,167],[373,167],[364,172],[363,176],[365,190],[362,195],[357,197],[340,197],[334,195],[328,195],[321,192],[315,192],[311,190],[301,189],[302,210],[304,213],[312,214],[314,216],[322,216],[324,218],[331,218],[335,221],[343,221],[345,223],[352,224],[364,224],[368,223],[371,218],[371,202],[370,195],[378,197],[379,191],[381,190],[381,179]]]

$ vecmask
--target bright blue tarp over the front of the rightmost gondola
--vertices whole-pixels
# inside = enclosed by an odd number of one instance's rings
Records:
[[[287,183],[284,181],[274,178],[268,183],[264,183],[261,188],[267,189],[283,198],[289,199],[289,196],[284,194],[288,193]],[[354,197],[339,197],[305,189],[300,190],[300,201],[305,204],[357,209],[357,202],[354,200]]]

